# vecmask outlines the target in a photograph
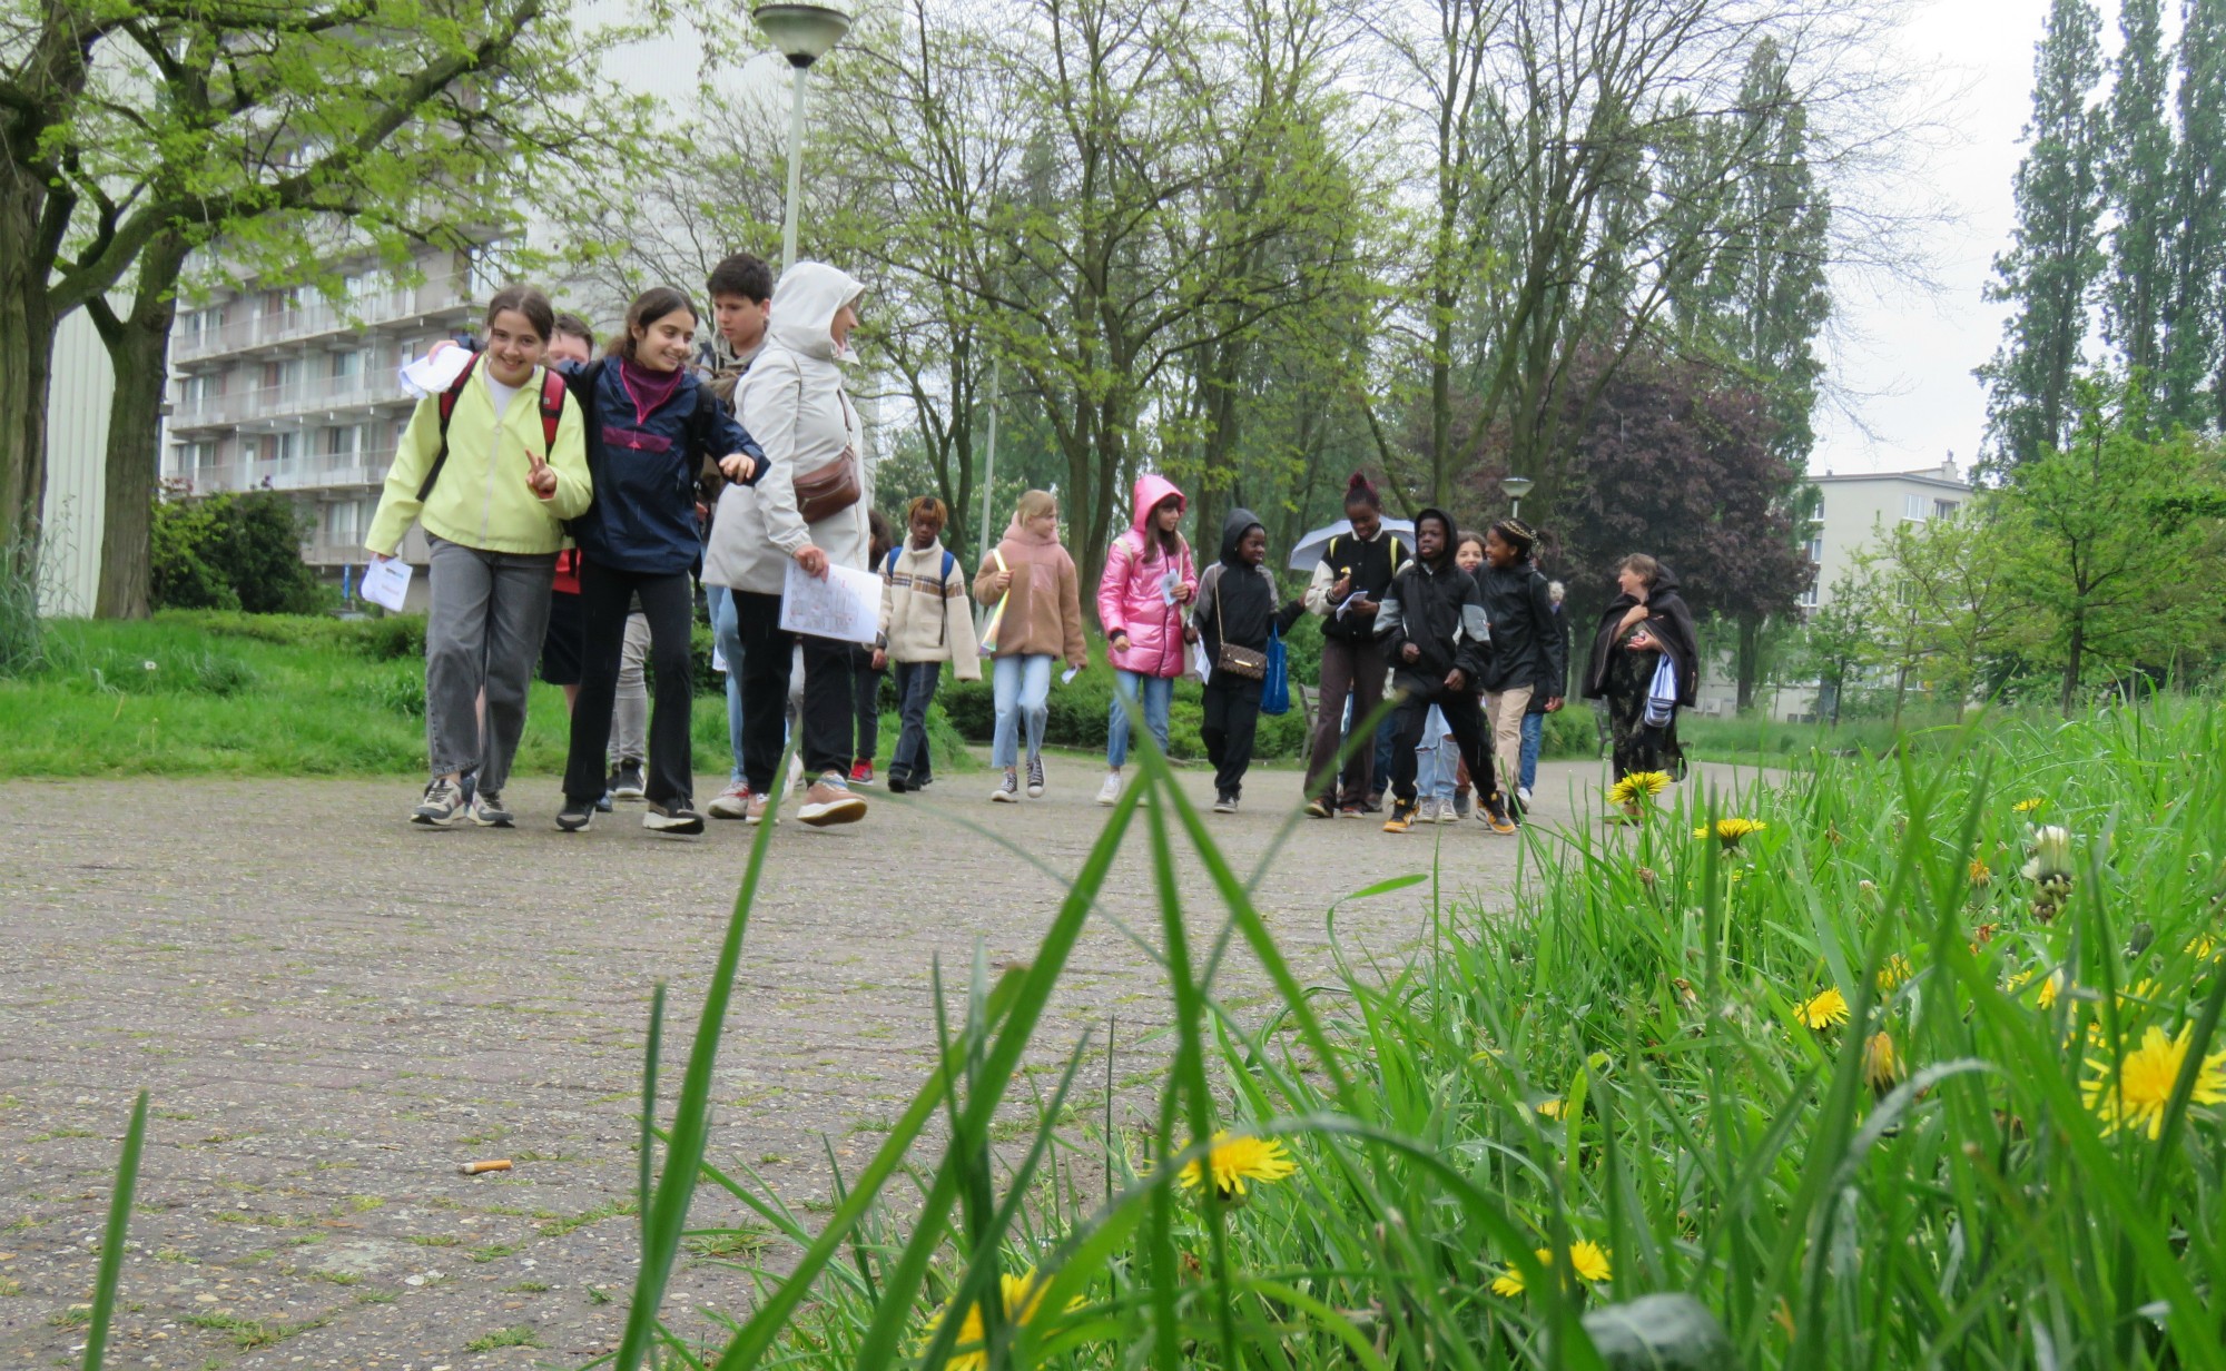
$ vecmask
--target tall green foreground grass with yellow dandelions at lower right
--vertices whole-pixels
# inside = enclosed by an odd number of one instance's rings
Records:
[[[1398,959],[1338,944],[1304,979],[1144,757],[1033,957],[935,966],[926,1079],[797,1202],[708,1153],[759,830],[677,1086],[661,986],[650,1010],[610,1364],[2226,1371],[2217,757],[2208,701],[1790,757],[1634,828],[1531,832],[1505,908],[1431,897]],[[1761,828],[1696,835],[1721,817]],[[1494,839],[1436,841],[1451,886]],[[1055,1039],[1131,848],[1164,1006]],[[1429,861],[1351,899],[1429,895]],[[2119,1064],[2175,1042],[2119,1126]],[[748,1220],[692,1226],[706,1186]],[[661,1322],[706,1244],[750,1271],[723,1347]],[[1603,1360],[1609,1318],[1665,1355]]]

